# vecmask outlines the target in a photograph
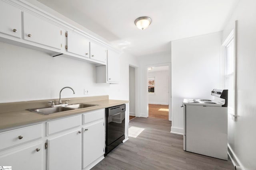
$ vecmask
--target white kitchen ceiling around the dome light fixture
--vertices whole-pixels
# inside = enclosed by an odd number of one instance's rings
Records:
[[[38,0],[135,56],[170,51],[169,42],[221,31],[239,0]],[[152,18],[140,30],[134,20]]]

